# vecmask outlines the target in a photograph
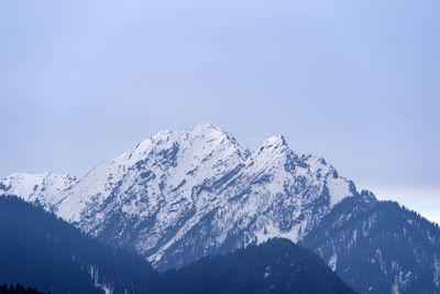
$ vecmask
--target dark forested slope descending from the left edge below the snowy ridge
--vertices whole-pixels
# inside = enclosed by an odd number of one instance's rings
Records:
[[[55,293],[148,293],[157,276],[142,258],[15,197],[0,197],[0,284]]]

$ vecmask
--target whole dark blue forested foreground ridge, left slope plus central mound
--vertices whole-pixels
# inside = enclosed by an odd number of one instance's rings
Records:
[[[0,198],[0,284],[59,294],[353,293],[311,251],[280,239],[158,274],[16,197]]]

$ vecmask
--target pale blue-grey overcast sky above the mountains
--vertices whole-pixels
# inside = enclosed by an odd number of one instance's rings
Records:
[[[0,177],[162,129],[275,133],[440,221],[440,2],[0,2]]]

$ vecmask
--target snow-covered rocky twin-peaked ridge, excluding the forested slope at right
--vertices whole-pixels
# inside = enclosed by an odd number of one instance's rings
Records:
[[[158,132],[79,179],[13,174],[0,183],[0,195],[40,202],[163,269],[272,237],[298,241],[343,198],[362,197],[282,135],[250,152],[209,123]]]

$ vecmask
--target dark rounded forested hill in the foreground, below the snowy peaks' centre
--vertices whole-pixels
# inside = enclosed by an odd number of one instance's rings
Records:
[[[161,275],[161,293],[354,293],[311,251],[272,239]]]

